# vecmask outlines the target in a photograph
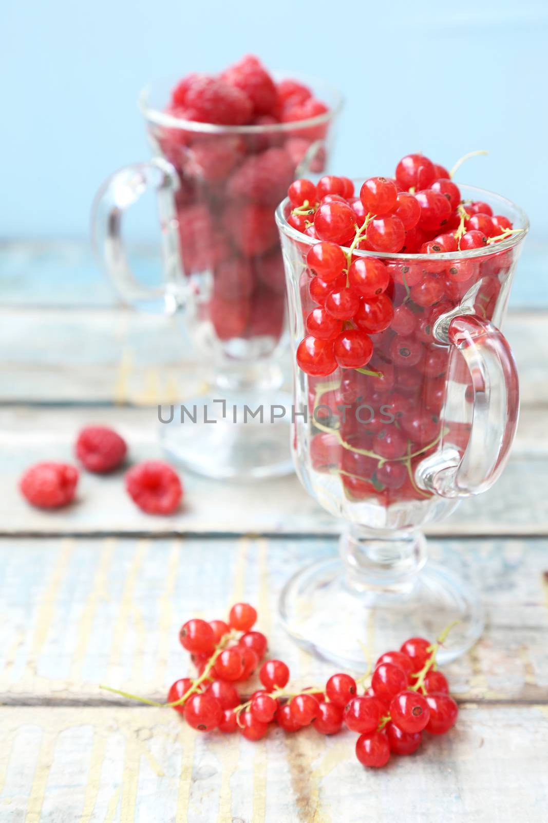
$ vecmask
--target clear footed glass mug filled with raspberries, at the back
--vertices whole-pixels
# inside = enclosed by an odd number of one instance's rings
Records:
[[[329,110],[254,126],[180,119],[168,106],[175,82],[147,86],[140,109],[154,157],[117,171],[94,202],[94,248],[122,298],[147,308],[159,301],[168,314],[184,309],[203,368],[213,367],[207,396],[182,401],[185,425],[176,407],[161,426],[168,453],[208,477],[293,471],[287,419],[261,422],[245,407],[255,412],[291,402],[281,390],[286,297],[274,210],[292,179],[324,172],[343,102],[331,86],[300,79]],[[277,173],[265,179],[260,165],[267,153]],[[148,188],[158,196],[163,256],[163,284],[154,288],[131,272],[122,239],[124,212]]]

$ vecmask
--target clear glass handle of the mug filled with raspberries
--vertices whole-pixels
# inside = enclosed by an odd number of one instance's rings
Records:
[[[158,196],[164,280],[161,286],[145,286],[135,277],[122,236],[124,213],[149,188],[155,188]],[[95,196],[91,213],[95,253],[122,300],[135,305],[163,299],[168,314],[173,314],[185,302],[186,295],[174,200],[178,188],[179,179],[173,165],[154,157],[144,163],[124,166],[106,179]]]

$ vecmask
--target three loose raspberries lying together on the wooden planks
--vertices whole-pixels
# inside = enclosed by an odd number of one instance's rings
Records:
[[[122,466],[127,443],[104,425],[89,425],[76,439],[76,458],[94,474],[108,474]],[[70,463],[35,463],[19,481],[21,494],[39,509],[59,509],[76,496],[79,472]],[[126,472],[126,491],[147,514],[173,514],[181,504],[182,483],[168,463],[145,460]]]

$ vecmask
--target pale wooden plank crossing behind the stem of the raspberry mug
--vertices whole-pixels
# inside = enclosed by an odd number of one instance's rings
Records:
[[[548,405],[548,314],[513,312],[513,346],[524,406]],[[129,309],[4,309],[0,323],[0,403],[80,402],[155,406],[204,387],[183,317]],[[283,362],[290,374],[288,356]]]

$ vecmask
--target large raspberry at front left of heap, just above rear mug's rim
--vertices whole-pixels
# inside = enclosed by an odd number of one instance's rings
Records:
[[[197,77],[185,94],[182,116],[198,123],[242,126],[249,123],[253,105],[237,86],[215,77]]]

